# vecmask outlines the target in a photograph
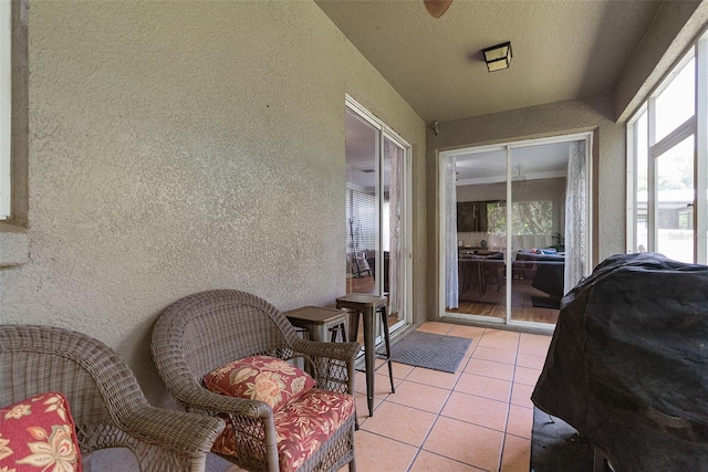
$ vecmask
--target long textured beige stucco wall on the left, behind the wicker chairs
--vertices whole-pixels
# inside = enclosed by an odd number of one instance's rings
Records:
[[[173,301],[333,303],[345,93],[414,146],[424,292],[425,124],[314,3],[29,6],[30,255],[0,270],[2,322],[95,336],[169,405],[149,339]]]

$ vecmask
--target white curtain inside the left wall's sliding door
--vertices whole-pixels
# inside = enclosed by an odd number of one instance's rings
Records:
[[[398,277],[403,274],[402,206],[403,202],[403,149],[387,141],[391,156],[391,177],[388,181],[388,312],[400,313],[400,290]],[[382,252],[381,272],[385,270]]]

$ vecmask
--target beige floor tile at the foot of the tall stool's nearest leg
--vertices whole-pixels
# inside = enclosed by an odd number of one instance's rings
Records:
[[[435,418],[434,413],[427,411],[384,401],[374,416],[361,424],[361,429],[420,447]]]

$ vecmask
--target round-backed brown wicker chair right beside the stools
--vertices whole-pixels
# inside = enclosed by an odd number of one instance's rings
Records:
[[[175,398],[189,411],[220,415],[232,428],[235,455],[221,455],[250,471],[278,472],[280,460],[273,411],[262,401],[214,394],[204,376],[229,361],[254,355],[302,359],[317,388],[352,394],[356,343],[302,339],[288,318],[267,301],[235,290],[216,290],[184,297],[159,316],[153,332],[157,370]],[[298,468],[354,472],[356,413]]]

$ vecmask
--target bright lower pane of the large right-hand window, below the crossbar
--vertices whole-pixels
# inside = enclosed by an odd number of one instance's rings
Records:
[[[694,262],[694,136],[656,159],[656,252]]]

